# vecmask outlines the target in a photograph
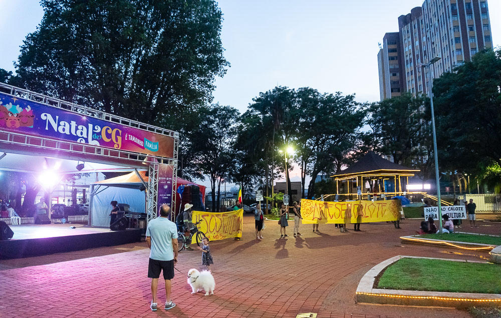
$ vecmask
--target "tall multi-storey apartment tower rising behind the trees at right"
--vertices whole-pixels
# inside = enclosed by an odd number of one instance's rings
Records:
[[[451,71],[479,50],[492,47],[487,0],[425,0],[421,7],[398,17],[398,30],[401,92],[426,92],[430,76],[436,78]],[[386,33],[384,38],[391,37],[393,43],[395,33]],[[389,50],[383,43],[378,53],[381,100],[397,95],[391,88],[396,79],[388,76],[389,62],[394,60]],[[422,74],[420,64],[435,56],[441,59],[431,66],[431,74]]]

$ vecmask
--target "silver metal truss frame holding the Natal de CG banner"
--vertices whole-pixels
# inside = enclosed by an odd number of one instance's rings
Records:
[[[125,126],[139,128],[172,137],[174,141],[173,156],[164,157],[94,144],[73,142],[37,135],[28,135],[26,133],[19,133],[0,128],[0,150],[26,155],[33,155],[34,153],[36,153],[37,155],[45,155],[49,157],[110,163],[124,167],[146,169],[149,173],[146,195],[147,221],[157,217],[158,166],[161,163],[169,164],[173,166],[172,206],[176,206],[177,158],[179,147],[178,132],[142,123],[137,120],[127,119],[114,114],[106,113],[101,110],[81,106],[72,102],[67,102],[58,98],[50,97],[5,83],[0,83],[0,92],[11,95],[15,100],[17,98],[23,98],[43,103],[49,106],[58,107],[67,111],[73,111],[84,116],[95,117],[113,123],[118,123]]]

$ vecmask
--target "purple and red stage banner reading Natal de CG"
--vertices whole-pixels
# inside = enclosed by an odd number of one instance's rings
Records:
[[[0,92],[0,130],[174,157],[174,138]]]

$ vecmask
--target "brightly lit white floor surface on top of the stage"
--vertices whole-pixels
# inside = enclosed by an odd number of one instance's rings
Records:
[[[9,225],[14,231],[11,239],[33,239],[111,232],[108,227],[87,227],[82,224],[22,224]],[[70,228],[75,226],[75,228]]]

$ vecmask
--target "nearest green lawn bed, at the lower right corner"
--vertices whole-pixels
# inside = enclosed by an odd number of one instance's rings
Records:
[[[377,288],[501,293],[501,266],[425,258],[402,258],[384,271]]]

